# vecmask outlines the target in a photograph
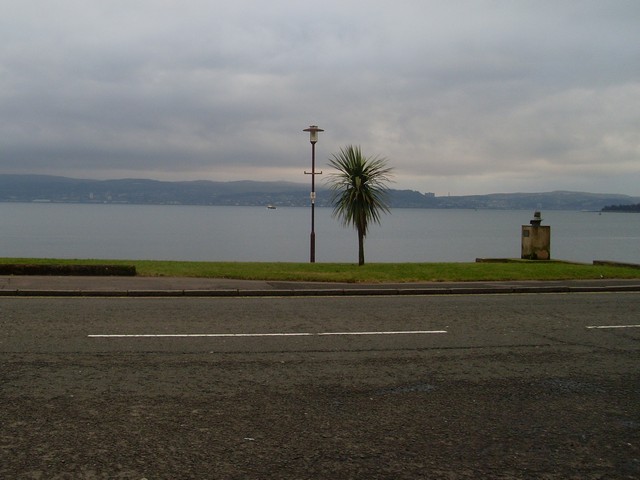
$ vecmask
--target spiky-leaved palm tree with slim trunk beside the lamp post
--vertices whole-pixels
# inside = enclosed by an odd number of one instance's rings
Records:
[[[364,265],[364,237],[370,222],[380,223],[380,214],[389,213],[386,201],[392,169],[387,159],[366,158],[360,147],[348,145],[333,154],[329,165],[337,172],[330,174],[328,183],[333,190],[333,216],[346,227],[353,225],[358,232],[358,265]]]

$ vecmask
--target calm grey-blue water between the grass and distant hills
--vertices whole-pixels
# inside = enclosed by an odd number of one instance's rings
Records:
[[[551,256],[640,263],[640,215],[543,211]],[[367,262],[519,257],[532,211],[394,209],[373,225]],[[310,208],[0,203],[0,256],[306,262]],[[316,209],[316,261],[356,262],[357,237]]]

